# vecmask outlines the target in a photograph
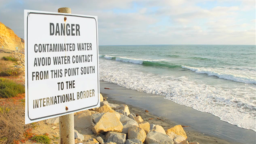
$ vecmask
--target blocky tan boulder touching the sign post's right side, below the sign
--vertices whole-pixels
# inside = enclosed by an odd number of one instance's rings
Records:
[[[91,112],[89,110],[84,111],[76,116],[74,116],[74,127],[75,128],[88,128],[94,126],[92,122]]]

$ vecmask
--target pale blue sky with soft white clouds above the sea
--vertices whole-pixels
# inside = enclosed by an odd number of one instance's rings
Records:
[[[24,9],[98,16],[99,45],[256,44],[255,0],[0,0],[24,38]]]

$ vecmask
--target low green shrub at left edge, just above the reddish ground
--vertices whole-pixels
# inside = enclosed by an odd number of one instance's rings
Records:
[[[16,84],[12,80],[0,78],[0,98],[12,98],[24,92],[25,88],[22,84]]]

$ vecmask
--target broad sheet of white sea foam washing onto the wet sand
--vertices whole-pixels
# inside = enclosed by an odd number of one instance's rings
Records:
[[[256,131],[256,100],[254,86],[223,89],[200,84],[187,76],[158,75],[141,72],[132,64],[100,59],[100,80],[120,86],[165,96],[178,104],[208,112],[241,128]]]

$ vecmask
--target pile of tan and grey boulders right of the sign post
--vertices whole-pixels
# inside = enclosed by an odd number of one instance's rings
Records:
[[[99,108],[75,114],[75,129],[90,128],[97,136],[84,140],[75,131],[76,144],[198,144],[186,141],[187,135],[181,125],[164,130],[162,126],[144,122],[140,116],[130,113],[125,104],[109,104],[101,100]]]

